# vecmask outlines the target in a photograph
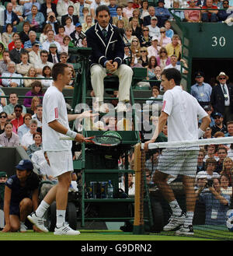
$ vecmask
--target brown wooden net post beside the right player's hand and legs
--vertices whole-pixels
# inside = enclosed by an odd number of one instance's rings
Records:
[[[134,172],[135,172],[135,196],[134,196],[134,234],[144,233],[144,170],[141,153],[141,143],[134,146]]]

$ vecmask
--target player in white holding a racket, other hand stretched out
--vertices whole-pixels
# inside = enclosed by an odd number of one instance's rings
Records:
[[[71,131],[68,121],[82,117],[83,114],[67,113],[62,89],[71,80],[71,69],[68,65],[57,63],[52,68],[54,85],[50,86],[43,96],[43,151],[47,152],[50,160],[52,176],[58,178],[55,185],[43,198],[36,212],[30,216],[30,222],[43,232],[48,232],[44,226],[43,215],[54,200],[57,205],[57,224],[54,230],[56,235],[78,235],[78,230],[72,230],[65,223],[65,212],[68,202],[68,188],[71,184],[71,172],[73,171],[73,161],[71,154],[71,140],[61,140],[62,136],[69,136],[76,142],[84,142],[85,138],[77,132]],[[86,114],[87,111],[85,111]],[[92,115],[88,113],[87,115]]]

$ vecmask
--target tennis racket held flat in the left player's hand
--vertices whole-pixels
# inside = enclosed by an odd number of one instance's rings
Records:
[[[61,140],[73,140],[70,137],[61,137]],[[121,139],[113,135],[96,135],[85,138],[85,142],[98,146],[117,146],[121,143]]]

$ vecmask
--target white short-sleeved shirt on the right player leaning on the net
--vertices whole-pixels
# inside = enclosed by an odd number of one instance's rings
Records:
[[[202,119],[206,117],[207,112],[181,86],[175,86],[164,93],[162,111],[169,115],[169,142],[198,139],[197,118]]]

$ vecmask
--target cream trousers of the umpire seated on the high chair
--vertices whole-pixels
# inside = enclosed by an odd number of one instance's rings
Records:
[[[95,96],[98,101],[103,102],[104,84],[103,79],[106,77],[106,68],[102,65],[92,65],[91,69],[91,82]],[[122,64],[113,75],[119,77],[119,101],[130,100],[130,86],[132,82],[133,70],[129,66]]]

